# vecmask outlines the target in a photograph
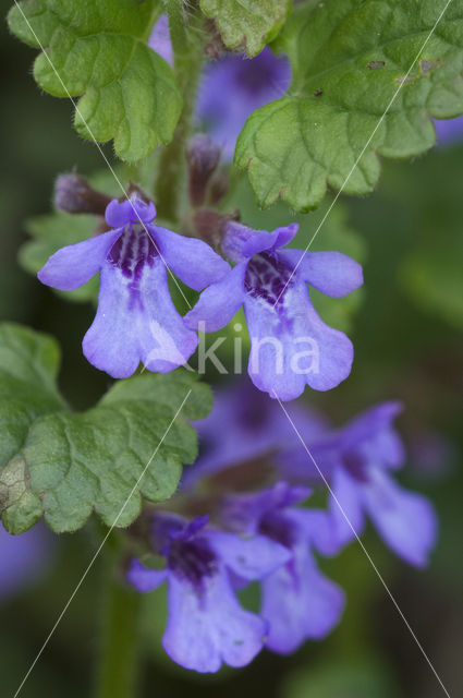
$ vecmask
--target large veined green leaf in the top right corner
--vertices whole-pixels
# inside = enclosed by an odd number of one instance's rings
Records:
[[[255,111],[236,144],[235,164],[248,167],[260,205],[281,196],[307,212],[327,183],[367,194],[379,178],[378,155],[423,153],[435,142],[429,117],[463,112],[463,0],[453,0],[421,50],[444,4],[326,0],[296,8],[277,40],[292,63],[289,96]]]

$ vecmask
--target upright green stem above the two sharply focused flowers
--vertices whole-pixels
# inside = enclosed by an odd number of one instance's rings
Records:
[[[188,8],[185,14],[182,0],[165,0],[174,56],[176,84],[183,95],[183,111],[173,140],[160,157],[155,200],[158,215],[179,220],[182,190],[185,184],[185,145],[191,133],[197,86],[204,61],[203,19],[198,10]]]

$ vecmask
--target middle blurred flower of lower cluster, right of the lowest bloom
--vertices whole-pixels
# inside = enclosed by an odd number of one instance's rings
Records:
[[[267,647],[288,654],[307,639],[321,639],[338,624],[344,593],[325,577],[312,552],[318,512],[292,508],[307,488],[283,482],[258,494],[226,500],[223,520],[235,530],[268,537],[291,554],[285,565],[261,580],[260,615],[268,622]]]

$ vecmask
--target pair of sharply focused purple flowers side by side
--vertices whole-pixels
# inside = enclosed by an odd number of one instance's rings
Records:
[[[342,297],[362,284],[356,262],[338,252],[281,250],[296,225],[266,232],[229,220],[220,233],[231,268],[209,244],[162,228],[155,217],[155,205],[138,193],[113,200],[106,232],[62,248],[38,273],[42,284],[73,290],[99,272],[98,311],[83,340],[90,363],[115,378],[132,375],[139,362],[172,371],[195,351],[196,329],[224,327],[244,305],[248,372],[258,388],[289,400],[306,384],[327,390],[349,375],[352,344],[318,317],[306,285]],[[169,272],[206,289],[185,317],[171,300]]]

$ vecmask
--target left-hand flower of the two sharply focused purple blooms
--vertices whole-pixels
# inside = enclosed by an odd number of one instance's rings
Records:
[[[42,284],[71,291],[100,272],[98,311],[83,341],[97,369],[125,378],[143,361],[167,373],[197,345],[170,298],[168,266],[200,290],[230,268],[209,245],[153,225],[156,208],[135,195],[106,209],[112,229],[56,252],[38,273]]]

